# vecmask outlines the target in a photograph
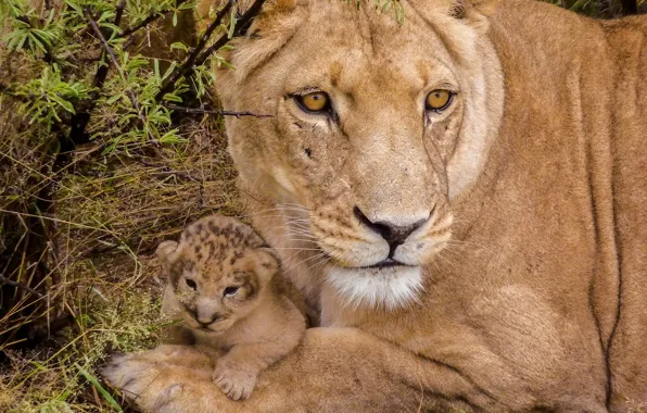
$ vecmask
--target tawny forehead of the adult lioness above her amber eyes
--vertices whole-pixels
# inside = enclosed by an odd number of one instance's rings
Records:
[[[417,98],[426,86],[453,78],[443,42],[408,5],[403,23],[370,4],[357,9],[343,1],[315,1],[308,8],[307,18],[261,74],[265,79],[284,76],[277,80],[288,93],[308,85],[335,89],[365,108],[363,99]]]

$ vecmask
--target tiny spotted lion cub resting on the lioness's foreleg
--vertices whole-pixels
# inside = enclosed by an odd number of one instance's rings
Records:
[[[250,397],[257,375],[290,353],[305,330],[305,303],[269,249],[248,225],[212,215],[164,241],[168,276],[162,313],[181,318],[168,341],[226,352],[213,378],[230,399]]]

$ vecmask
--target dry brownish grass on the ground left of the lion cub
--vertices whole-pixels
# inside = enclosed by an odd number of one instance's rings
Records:
[[[155,148],[151,155],[138,150],[130,157],[103,157],[99,142],[89,143],[53,176],[34,166],[42,164],[35,158],[39,143],[23,140],[30,137],[8,117],[0,122],[0,130],[13,129],[0,141],[7,172],[0,210],[15,211],[16,200],[37,196],[52,179],[59,182],[55,215],[40,217],[51,220],[55,231],[55,246],[42,258],[52,286],[37,302],[49,301],[41,305],[46,331],[54,320],[67,320],[68,325],[35,348],[21,350],[20,341],[0,347],[0,411],[118,411],[119,402],[102,395],[100,379],[94,381],[97,367],[111,352],[150,348],[157,340],[163,321],[155,247],[199,216],[239,210],[220,123],[186,120],[180,125],[186,142]],[[0,242],[7,238],[11,234],[0,233]],[[23,308],[36,305],[29,293],[15,293],[24,295],[23,301],[16,300]],[[0,318],[0,328],[15,323],[12,315]]]

